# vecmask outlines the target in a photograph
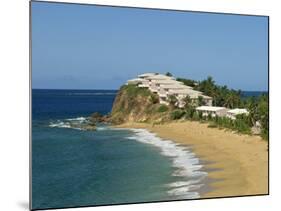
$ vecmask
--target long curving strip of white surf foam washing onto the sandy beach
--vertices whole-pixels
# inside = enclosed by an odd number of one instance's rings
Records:
[[[196,192],[202,184],[200,182],[206,177],[207,173],[200,171],[203,167],[199,159],[188,147],[179,145],[171,140],[161,139],[156,134],[145,129],[131,129],[135,135],[128,137],[142,143],[151,144],[160,149],[160,153],[170,157],[176,170],[173,176],[181,177],[183,181],[167,184],[169,195],[178,198],[198,198]]]

